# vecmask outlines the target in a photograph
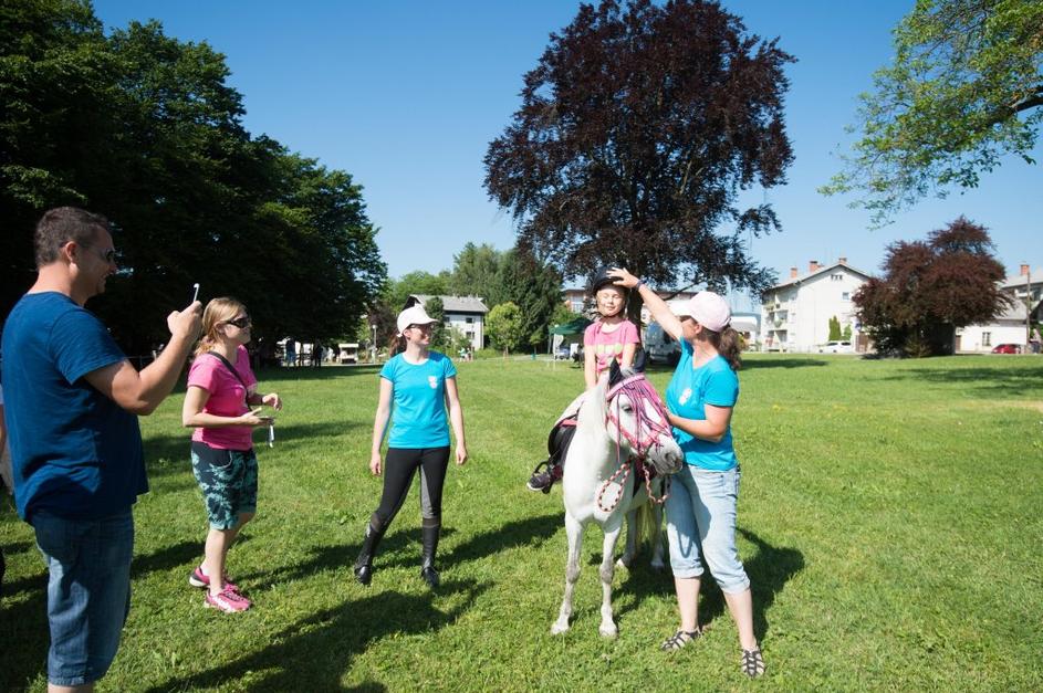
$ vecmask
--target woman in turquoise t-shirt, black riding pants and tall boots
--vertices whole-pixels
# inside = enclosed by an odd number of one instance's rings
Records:
[[[420,470],[420,577],[438,587],[435,553],[441,533],[441,492],[449,466],[449,423],[457,438],[456,461],[467,461],[463,409],[457,395],[457,369],[449,357],[429,349],[432,319],[416,305],[398,314],[398,347],[404,349],[380,369],[380,399],[373,421],[369,471],[384,474],[380,505],[369,518],[362,550],[355,560],[355,578],[373,579],[373,556],[392,519],[398,513],[413,476]],[[394,410],[392,403],[394,402]],[[446,416],[446,409],[449,416]],[[380,444],[390,419],[387,458]]]

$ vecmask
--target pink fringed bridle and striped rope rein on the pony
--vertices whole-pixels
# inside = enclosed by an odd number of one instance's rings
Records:
[[[635,432],[630,433],[625,430],[619,424],[619,409],[622,407],[619,402],[619,395],[624,393],[634,405],[634,418],[637,421],[635,427]],[[619,432],[619,437],[625,438],[627,442],[630,443],[630,448],[635,451],[636,456],[623,461],[623,443],[619,438],[616,438],[616,463],[618,468],[613,472],[612,476],[602,484],[601,491],[597,493],[597,507],[602,512],[611,513],[615,510],[616,505],[619,504],[619,501],[623,498],[623,491],[620,490],[619,494],[616,496],[615,502],[609,506],[605,507],[602,503],[602,497],[605,495],[605,491],[608,490],[608,485],[615,482],[616,477],[619,474],[623,474],[623,480],[616,482],[619,484],[620,489],[626,487],[626,480],[630,475],[630,463],[636,461],[639,463],[638,474],[645,477],[645,489],[648,491],[648,498],[656,504],[661,505],[670,497],[669,493],[669,479],[665,480],[663,495],[656,497],[651,493],[651,471],[648,469],[648,451],[654,447],[658,448],[659,437],[660,435],[671,435],[669,427],[669,418],[667,416],[666,407],[663,405],[663,400],[659,398],[659,393],[656,392],[656,389],[651,387],[651,384],[645,378],[643,374],[637,374],[628,378],[624,378],[622,381],[617,382],[608,393],[605,396],[605,399],[608,401],[608,420],[612,421],[616,430]],[[612,402],[615,400],[616,410],[613,412]],[[653,410],[658,414],[659,421],[655,421],[651,417],[648,416],[645,407],[650,406]]]

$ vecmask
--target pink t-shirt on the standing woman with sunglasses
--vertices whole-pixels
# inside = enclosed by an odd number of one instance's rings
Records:
[[[236,370],[250,390],[257,389],[257,376],[250,368],[247,348],[240,346],[236,353]],[[242,387],[228,366],[212,354],[200,354],[188,369],[189,387],[200,387],[210,393],[202,410],[217,417],[239,417],[250,411],[247,406],[247,388]],[[192,440],[219,450],[250,450],[253,447],[253,428],[226,426],[216,429],[197,428]]]

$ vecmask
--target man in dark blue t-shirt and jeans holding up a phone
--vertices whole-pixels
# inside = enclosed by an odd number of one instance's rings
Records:
[[[14,501],[50,574],[49,690],[91,691],[131,603],[131,506],[148,491],[137,414],[177,382],[201,307],[170,313],[169,344],[138,372],[83,307],[116,271],[108,221],[52,209],[34,244],[36,282],[8,315],[0,347]]]

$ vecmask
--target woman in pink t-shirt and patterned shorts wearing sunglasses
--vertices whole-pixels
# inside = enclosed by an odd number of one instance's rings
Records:
[[[275,392],[257,391],[246,347],[250,327],[246,306],[234,298],[215,298],[207,304],[204,337],[188,370],[181,409],[181,423],[196,427],[192,473],[210,521],[202,565],[192,570],[188,582],[207,588],[204,605],[226,613],[250,608],[250,600],[228,579],[225,559],[239,529],[257,511],[253,427],[272,421],[271,417],[259,416],[261,405],[282,408]]]

